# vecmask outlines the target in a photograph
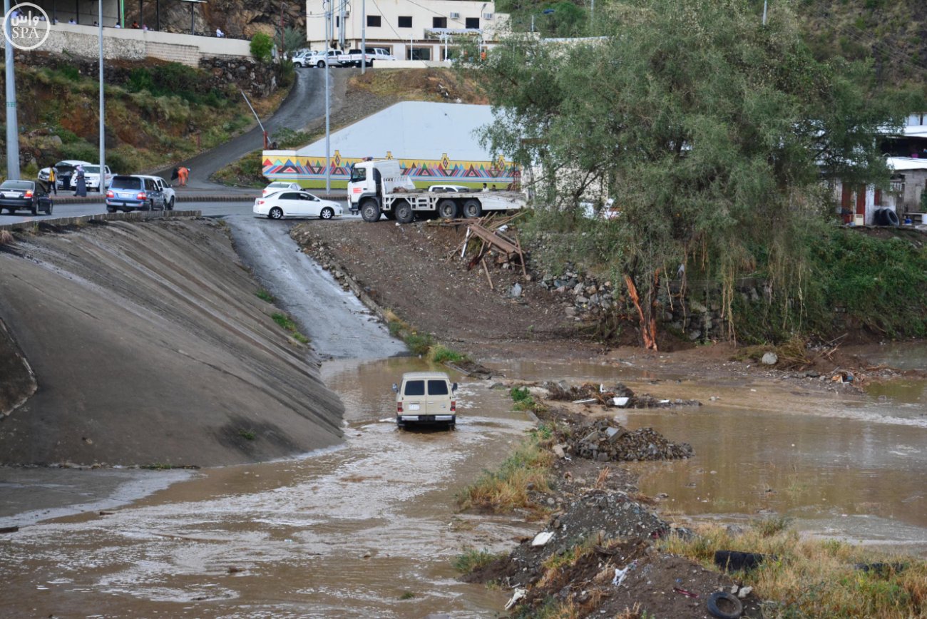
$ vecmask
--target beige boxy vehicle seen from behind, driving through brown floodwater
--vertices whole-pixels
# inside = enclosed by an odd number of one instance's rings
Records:
[[[402,384],[393,384],[396,392],[396,424],[444,423],[453,428],[457,423],[457,383],[443,372],[407,372]]]

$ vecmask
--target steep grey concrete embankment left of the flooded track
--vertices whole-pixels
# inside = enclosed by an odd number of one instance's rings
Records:
[[[37,384],[0,416],[2,464],[221,465],[341,437],[315,356],[273,322],[218,223],[22,235],[0,273],[0,352],[15,342]]]

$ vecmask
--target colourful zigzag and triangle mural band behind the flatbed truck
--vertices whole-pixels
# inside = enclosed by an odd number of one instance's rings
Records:
[[[387,152],[387,159],[392,154]],[[350,178],[351,164],[361,157],[343,157],[337,150],[331,158],[332,186],[345,187]],[[500,156],[494,161],[453,161],[447,153],[439,159],[399,159],[402,173],[421,187],[437,183],[481,186],[495,184],[500,189],[520,180],[520,171]],[[298,157],[296,151],[264,151],[263,174],[271,181],[293,181],[304,187],[324,187],[325,158]]]

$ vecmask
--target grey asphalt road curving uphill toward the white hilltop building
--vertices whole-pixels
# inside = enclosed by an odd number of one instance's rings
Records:
[[[349,71],[345,69],[331,71],[331,106],[332,113],[341,107],[346,90],[346,77]],[[296,82],[290,89],[286,99],[277,108],[268,120],[261,120],[268,135],[288,128],[294,131],[304,129],[312,120],[323,117],[325,113],[325,75],[320,69],[296,69]],[[216,146],[212,150],[200,153],[189,158],[179,165],[190,169],[190,178],[187,185],[192,189],[221,189],[227,191],[228,187],[218,183],[211,183],[210,176],[223,166],[248,155],[264,145],[260,126],[255,126],[248,133]],[[154,172],[157,176],[171,178],[173,166]]]

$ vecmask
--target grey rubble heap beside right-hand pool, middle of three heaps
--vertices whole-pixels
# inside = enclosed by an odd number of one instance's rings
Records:
[[[651,461],[692,458],[689,443],[673,443],[654,428],[629,431],[618,423],[602,419],[578,428],[566,451],[595,461]]]

